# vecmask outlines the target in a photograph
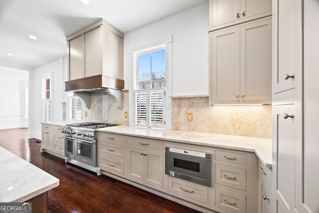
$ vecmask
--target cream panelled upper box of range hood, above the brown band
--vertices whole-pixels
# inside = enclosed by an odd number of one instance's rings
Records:
[[[123,79],[123,39],[104,19],[67,36],[69,80],[100,74]]]

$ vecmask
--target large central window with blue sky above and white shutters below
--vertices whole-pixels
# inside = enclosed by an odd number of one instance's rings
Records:
[[[135,125],[165,127],[165,44],[134,52],[136,86]]]

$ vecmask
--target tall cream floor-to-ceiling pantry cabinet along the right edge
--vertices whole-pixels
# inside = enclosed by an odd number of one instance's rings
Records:
[[[318,0],[273,0],[272,213],[318,213]]]

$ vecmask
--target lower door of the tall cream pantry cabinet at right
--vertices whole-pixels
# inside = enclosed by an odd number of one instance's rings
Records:
[[[273,108],[273,213],[293,213],[295,208],[295,117],[284,116],[295,115],[295,111],[294,104]]]

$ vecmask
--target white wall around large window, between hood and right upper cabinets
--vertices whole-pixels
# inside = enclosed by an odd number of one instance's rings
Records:
[[[172,94],[208,94],[208,1],[125,34],[125,88],[132,89],[133,46],[172,35]]]

